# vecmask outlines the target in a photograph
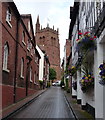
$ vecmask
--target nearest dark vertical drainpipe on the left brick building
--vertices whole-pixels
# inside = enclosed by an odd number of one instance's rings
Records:
[[[17,26],[16,26],[16,49],[15,49],[15,75],[14,75],[14,94],[13,100],[14,103],[16,102],[16,81],[17,81],[17,58],[18,58],[18,27],[19,27],[19,18],[17,19]]]

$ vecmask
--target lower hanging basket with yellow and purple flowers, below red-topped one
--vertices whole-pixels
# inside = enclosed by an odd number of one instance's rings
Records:
[[[94,85],[94,77],[92,74],[88,74],[87,76],[84,75],[82,79],[80,80],[81,90],[83,92],[86,92],[86,90]]]

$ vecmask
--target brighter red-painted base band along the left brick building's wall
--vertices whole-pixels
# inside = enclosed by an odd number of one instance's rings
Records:
[[[2,87],[2,108],[5,108],[11,104],[13,104],[13,94],[14,94],[14,86],[10,85],[0,85]],[[37,86],[38,87],[38,86]],[[32,95],[37,90],[28,89],[28,96]],[[26,97],[26,89],[25,88],[16,88],[16,102]]]

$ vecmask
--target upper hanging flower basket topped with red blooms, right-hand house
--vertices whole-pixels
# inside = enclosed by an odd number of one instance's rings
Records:
[[[96,36],[92,36],[90,32],[85,32],[84,34],[79,32],[79,39],[76,40],[77,46],[76,49],[77,51],[87,51],[87,50],[92,50],[95,48],[95,38]]]

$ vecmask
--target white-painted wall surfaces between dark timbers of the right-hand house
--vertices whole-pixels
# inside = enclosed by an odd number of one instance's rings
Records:
[[[91,0],[90,0],[91,1]],[[101,1],[102,2],[102,1]],[[88,4],[88,5],[87,5]],[[103,4],[103,3],[102,3]],[[86,15],[88,14],[88,11],[90,10],[91,3],[86,2],[85,7],[82,7],[83,3],[80,2],[80,9],[79,9],[79,29],[82,31],[85,31],[85,25],[84,18],[86,18]],[[91,31],[91,27],[93,22],[93,25],[95,21],[97,20],[96,15],[96,4],[94,4],[95,8],[92,8],[92,13],[90,13],[88,17],[88,23],[87,28],[88,31]],[[95,9],[95,12],[94,12]],[[94,17],[95,13],[95,17]],[[93,20],[93,21],[92,21]],[[73,28],[72,33],[72,64],[75,65],[75,62],[77,61],[77,56],[75,53],[75,40],[76,40],[76,23]],[[79,84],[79,80],[82,78],[83,73],[79,74],[77,72],[77,79],[72,77],[72,81],[77,80],[77,93],[72,88],[72,95],[77,95],[77,99],[82,99],[82,105],[86,105],[88,103],[92,107],[95,108],[95,117],[96,118],[104,118],[105,120],[105,86],[102,86],[99,84],[99,65],[103,63],[103,60],[105,61],[105,29],[101,33],[100,37],[97,38],[97,50],[94,51],[94,77],[95,77],[95,85],[94,89],[90,89],[87,93],[83,93],[81,91],[81,86]],[[75,54],[74,54],[75,53]]]

